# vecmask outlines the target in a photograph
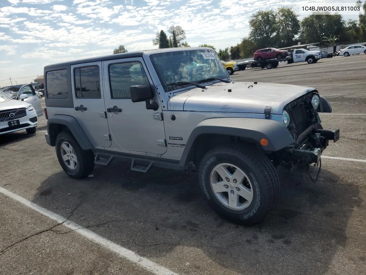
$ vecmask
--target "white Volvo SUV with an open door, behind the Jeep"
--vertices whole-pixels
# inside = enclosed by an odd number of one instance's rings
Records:
[[[19,130],[26,130],[29,134],[36,132],[40,115],[32,104],[21,100],[23,97],[20,95],[20,100],[15,100],[0,92],[0,135]]]

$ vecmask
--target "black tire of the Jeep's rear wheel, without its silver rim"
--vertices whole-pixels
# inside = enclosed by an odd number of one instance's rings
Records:
[[[63,142],[69,143],[75,151],[77,158],[76,168],[71,170],[65,164],[61,156],[61,145]],[[68,132],[60,132],[56,137],[56,155],[62,169],[68,176],[74,179],[87,177],[94,169],[94,153],[91,150],[82,150],[79,143]]]

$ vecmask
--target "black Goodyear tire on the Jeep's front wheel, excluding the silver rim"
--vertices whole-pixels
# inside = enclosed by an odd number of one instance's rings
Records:
[[[255,186],[253,200],[247,208],[232,210],[224,206],[212,191],[210,175],[215,166],[221,163],[235,165],[243,170]],[[269,158],[253,147],[240,144],[217,146],[206,153],[199,165],[199,184],[206,201],[219,216],[243,225],[264,220],[276,205],[280,194],[279,177]]]

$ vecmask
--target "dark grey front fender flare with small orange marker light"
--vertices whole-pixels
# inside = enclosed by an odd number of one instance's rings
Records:
[[[190,156],[195,140],[203,134],[219,134],[238,136],[254,140],[258,144],[262,138],[268,140],[268,145],[260,145],[264,151],[278,151],[292,143],[294,137],[285,125],[275,120],[263,118],[208,118],[201,121],[191,132],[183,150],[180,165],[184,166]]]

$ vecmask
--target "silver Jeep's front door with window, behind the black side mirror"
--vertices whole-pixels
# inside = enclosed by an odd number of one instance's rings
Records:
[[[164,122],[158,118],[161,102],[154,91],[157,111],[147,110],[145,102],[132,102],[130,86],[150,84],[152,80],[142,58],[103,61],[105,105],[112,139],[120,148],[142,153],[164,154]],[[154,115],[156,114],[156,115]],[[159,145],[160,144],[160,145]],[[163,145],[163,146],[161,146]]]

